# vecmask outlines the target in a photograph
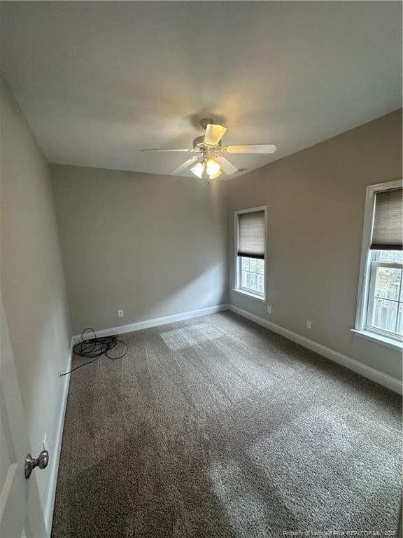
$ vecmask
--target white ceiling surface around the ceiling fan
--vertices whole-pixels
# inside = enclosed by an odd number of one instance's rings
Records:
[[[45,156],[166,174],[197,119],[253,170],[400,108],[402,4],[1,2],[1,69]],[[191,174],[190,174],[191,175]]]

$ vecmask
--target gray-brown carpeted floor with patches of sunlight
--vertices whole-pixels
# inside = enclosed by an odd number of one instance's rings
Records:
[[[400,396],[230,312],[122,339],[71,375],[53,538],[395,529]]]

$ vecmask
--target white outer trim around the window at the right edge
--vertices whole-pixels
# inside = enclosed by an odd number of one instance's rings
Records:
[[[362,338],[376,340],[379,343],[388,345],[389,347],[395,347],[396,349],[403,348],[402,340],[395,336],[390,337],[386,335],[386,333],[382,333],[382,331],[375,331],[374,329],[365,326],[365,324],[367,321],[369,282],[371,277],[371,251],[369,247],[371,246],[372,228],[374,226],[375,195],[379,191],[388,191],[391,188],[400,187],[402,187],[402,179],[367,186],[364,226],[362,228],[357,310],[355,314],[355,326],[354,329],[351,329],[353,333],[362,336]]]

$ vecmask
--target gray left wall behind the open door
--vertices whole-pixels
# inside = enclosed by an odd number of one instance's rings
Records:
[[[69,364],[70,328],[48,163],[0,74],[1,292],[32,454],[50,463]],[[51,464],[36,474],[45,505]]]

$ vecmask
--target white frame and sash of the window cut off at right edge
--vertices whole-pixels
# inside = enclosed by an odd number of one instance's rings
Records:
[[[402,179],[396,179],[394,181],[387,181],[386,183],[379,183],[367,186],[366,198],[365,198],[365,214],[364,225],[362,229],[362,245],[361,245],[361,257],[360,257],[360,275],[358,279],[358,297],[356,303],[355,314],[355,326],[353,332],[365,336],[365,338],[371,338],[379,340],[381,343],[387,345],[392,344],[392,347],[401,349],[403,347],[402,338],[395,333],[390,333],[379,329],[369,324],[372,320],[372,305],[369,304],[369,297],[374,288],[374,271],[376,266],[382,267],[399,267],[402,265],[395,264],[393,262],[378,262],[372,260],[372,250],[370,249],[372,241],[372,230],[374,228],[374,215],[375,215],[375,198],[376,193],[379,191],[388,191],[391,188],[402,187]]]

